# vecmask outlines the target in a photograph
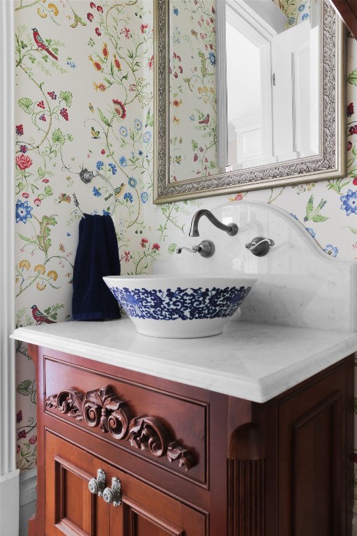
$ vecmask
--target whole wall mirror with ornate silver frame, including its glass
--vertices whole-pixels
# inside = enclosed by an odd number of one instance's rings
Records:
[[[154,203],[344,177],[344,25],[279,4],[155,2]]]

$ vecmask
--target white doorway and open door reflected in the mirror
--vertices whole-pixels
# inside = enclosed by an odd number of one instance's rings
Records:
[[[238,170],[318,154],[318,10],[289,25],[273,1],[221,1],[216,7],[217,34],[226,35],[217,47],[217,77],[227,71],[227,111],[218,110],[218,137],[228,143],[223,165]]]

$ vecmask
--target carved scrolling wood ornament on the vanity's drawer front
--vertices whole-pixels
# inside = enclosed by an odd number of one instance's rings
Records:
[[[46,409],[59,410],[78,422],[92,428],[100,427],[116,440],[126,440],[132,447],[150,452],[170,462],[179,461],[179,467],[189,470],[196,465],[192,453],[172,438],[166,426],[157,417],[133,417],[128,404],[116,396],[110,385],[89,392],[75,387],[63,389],[45,400]]]

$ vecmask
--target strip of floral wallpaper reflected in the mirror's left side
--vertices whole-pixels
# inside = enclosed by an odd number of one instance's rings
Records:
[[[169,8],[170,181],[218,173],[215,1]]]

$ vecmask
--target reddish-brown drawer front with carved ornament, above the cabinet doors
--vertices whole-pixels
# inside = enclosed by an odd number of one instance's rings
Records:
[[[44,379],[47,415],[207,485],[207,402],[49,356]]]

